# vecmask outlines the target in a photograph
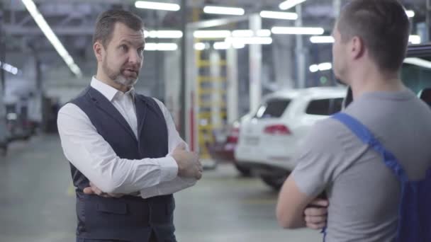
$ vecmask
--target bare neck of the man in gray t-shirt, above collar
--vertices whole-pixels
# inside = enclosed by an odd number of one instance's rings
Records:
[[[359,98],[364,93],[376,91],[397,92],[405,90],[405,86],[397,73],[382,73],[381,71],[368,71],[364,74],[354,74],[350,86],[353,98]]]

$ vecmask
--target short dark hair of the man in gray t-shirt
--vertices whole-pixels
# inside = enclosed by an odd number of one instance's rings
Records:
[[[408,45],[410,24],[397,0],[353,0],[337,21],[343,42],[358,36],[370,56],[386,71],[398,71]]]

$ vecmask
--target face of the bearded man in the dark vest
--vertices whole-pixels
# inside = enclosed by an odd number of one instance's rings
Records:
[[[144,59],[144,33],[116,23],[111,41],[108,42],[102,59],[103,72],[114,82],[133,86],[138,81]]]

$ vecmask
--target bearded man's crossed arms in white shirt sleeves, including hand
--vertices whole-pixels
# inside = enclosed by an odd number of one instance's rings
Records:
[[[186,151],[169,112],[164,105],[159,105],[167,122],[169,154],[158,159],[140,160],[118,157],[76,105],[69,103],[60,110],[57,122],[65,156],[91,180],[93,186],[90,188],[95,188],[96,194],[140,194],[147,198],[188,188],[201,177],[197,156]],[[175,151],[185,161],[182,165],[194,167],[180,166],[172,156]],[[188,158],[194,161],[186,161]],[[181,171],[193,171],[193,174]]]

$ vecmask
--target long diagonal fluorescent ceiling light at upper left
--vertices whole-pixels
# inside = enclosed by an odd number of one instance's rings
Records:
[[[46,38],[50,40],[51,45],[55,48],[55,50],[57,50],[58,54],[60,54],[60,56],[66,62],[67,67],[69,67],[69,69],[77,77],[81,77],[82,76],[81,69],[79,69],[77,64],[74,63],[73,58],[70,56],[69,52],[67,52],[65,47],[62,45],[62,42],[60,42],[60,40],[57,38],[57,35],[55,35],[55,33],[52,32],[50,25],[46,23],[45,18],[43,18],[42,14],[38,11],[38,8],[36,7],[33,0],[21,0],[21,1],[23,1],[24,6],[26,6],[27,11],[33,17],[36,24],[38,24],[40,30],[42,30]]]

